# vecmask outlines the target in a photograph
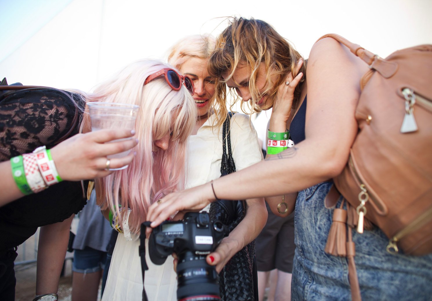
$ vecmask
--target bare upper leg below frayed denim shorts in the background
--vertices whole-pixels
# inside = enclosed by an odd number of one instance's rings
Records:
[[[95,273],[76,273],[72,276],[72,301],[96,301],[102,270]]]

